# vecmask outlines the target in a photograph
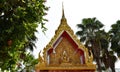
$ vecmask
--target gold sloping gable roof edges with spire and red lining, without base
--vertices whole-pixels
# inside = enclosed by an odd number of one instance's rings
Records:
[[[60,25],[59,25],[58,29],[55,31],[54,37],[47,44],[47,46],[44,48],[44,51],[43,51],[44,59],[47,60],[46,59],[47,58],[46,57],[47,56],[47,51],[50,50],[50,49],[52,50],[52,48],[54,47],[54,45],[56,44],[56,42],[60,38],[60,36],[65,35],[65,33],[70,39],[72,39],[73,44],[75,46],[77,46],[78,48],[80,48],[84,52],[85,62],[88,61],[88,50],[87,50],[87,48],[85,48],[85,46],[82,43],[80,43],[80,40],[77,39],[77,36],[74,35],[73,30],[67,24],[67,20],[66,20],[65,15],[64,15],[64,9],[62,9],[61,22],[60,22]]]

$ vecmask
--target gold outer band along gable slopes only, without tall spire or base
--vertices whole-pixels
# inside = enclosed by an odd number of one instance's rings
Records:
[[[84,51],[84,53],[85,53],[85,63],[86,64],[92,63],[92,61],[91,62],[88,61],[89,58],[90,58],[89,55],[88,55],[88,49],[82,43],[80,43],[80,41],[77,39],[77,36],[74,35],[73,30],[68,26],[65,18],[61,19],[61,24],[59,25],[58,29],[55,31],[54,37],[51,39],[49,44],[44,48],[43,57],[44,57],[45,61],[47,60],[46,59],[47,58],[47,54],[46,54],[47,51],[50,48],[52,48],[54,42],[59,38],[59,36],[61,35],[61,33],[63,31],[66,31],[71,36],[71,38],[75,41],[75,43],[78,45],[78,47]]]

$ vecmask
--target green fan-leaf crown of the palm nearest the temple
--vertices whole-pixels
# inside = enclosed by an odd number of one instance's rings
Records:
[[[86,37],[95,38],[95,33],[98,32],[104,25],[96,18],[85,18],[81,24],[77,24],[80,29],[76,34],[81,37],[82,41],[86,40]],[[83,42],[84,42],[83,41]]]

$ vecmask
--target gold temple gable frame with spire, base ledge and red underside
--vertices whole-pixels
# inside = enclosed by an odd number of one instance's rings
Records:
[[[85,63],[84,65],[81,66],[73,66],[73,67],[52,67],[52,66],[47,66],[47,56],[48,56],[48,51],[53,52],[53,48],[56,47],[57,43],[59,43],[61,37],[66,37],[69,42],[77,48],[78,50],[82,50],[84,52],[84,57],[85,57]],[[35,66],[36,70],[95,70],[96,65],[93,63],[93,56],[88,55],[88,49],[85,48],[85,46],[80,43],[80,40],[77,39],[77,36],[74,35],[73,30],[70,28],[70,26],[67,24],[67,20],[64,15],[64,9],[62,9],[62,18],[60,25],[58,29],[55,31],[54,37],[51,39],[51,41],[47,44],[47,46],[43,50],[43,57],[40,56],[39,54],[39,63]]]

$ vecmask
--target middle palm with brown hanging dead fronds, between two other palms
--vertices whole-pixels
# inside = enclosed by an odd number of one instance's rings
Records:
[[[117,60],[116,56],[114,55],[114,51],[110,49],[110,34],[106,33],[105,31],[101,31],[102,35],[100,38],[101,44],[101,61],[104,64],[105,69],[111,69],[112,72],[115,72],[115,62]]]

